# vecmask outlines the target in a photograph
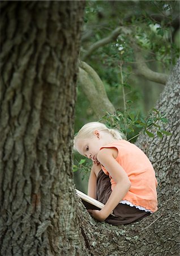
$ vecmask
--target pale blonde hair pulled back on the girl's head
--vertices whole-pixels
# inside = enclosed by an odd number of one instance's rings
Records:
[[[86,138],[92,138],[94,135],[94,131],[98,130],[98,131],[106,131],[108,132],[110,135],[112,135],[112,137],[114,139],[116,139],[117,141],[119,139],[123,139],[125,137],[125,135],[123,135],[120,131],[116,130],[116,129],[109,129],[106,125],[104,125],[104,123],[100,123],[100,122],[89,122],[86,123],[79,131],[78,134],[75,135],[74,138],[74,145],[76,145],[76,141],[78,141],[78,139],[86,139]]]

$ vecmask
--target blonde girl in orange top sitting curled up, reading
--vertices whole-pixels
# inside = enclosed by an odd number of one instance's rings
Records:
[[[128,224],[157,210],[157,180],[152,164],[140,148],[122,139],[115,129],[87,123],[75,137],[75,148],[93,166],[88,195],[101,201],[101,210],[89,210],[98,221]],[[115,215],[109,216],[112,212]]]

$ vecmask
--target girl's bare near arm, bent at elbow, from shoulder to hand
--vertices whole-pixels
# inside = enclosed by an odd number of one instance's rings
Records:
[[[104,221],[109,216],[131,187],[130,180],[128,179],[125,170],[114,159],[113,154],[117,154],[117,150],[115,148],[103,148],[97,155],[98,161],[113,177],[115,183],[117,183],[103,209],[89,210],[92,217],[100,221]]]

